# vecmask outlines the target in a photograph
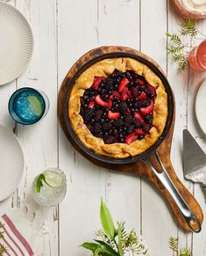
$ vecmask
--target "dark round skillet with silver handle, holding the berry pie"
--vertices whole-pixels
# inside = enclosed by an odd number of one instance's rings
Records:
[[[68,118],[68,113],[67,113],[68,99],[70,97],[72,86],[75,83],[75,80],[82,74],[82,72],[88,69],[89,66],[91,66],[96,62],[99,62],[106,58],[117,58],[117,57],[131,57],[133,59],[138,60],[139,62],[146,64],[150,69],[152,69],[153,72],[158,77],[160,77],[162,83],[166,88],[167,105],[168,105],[167,123],[158,141],[154,143],[153,146],[150,147],[148,150],[137,155],[136,157],[126,157],[126,158],[120,158],[120,159],[96,154],[93,150],[89,150],[87,147],[85,147],[83,143],[80,141],[80,139],[75,135],[75,132],[72,128],[72,125]],[[199,232],[201,230],[201,223],[199,222],[195,214],[191,211],[191,209],[188,207],[187,202],[184,201],[179,191],[174,186],[173,181],[168,176],[167,170],[165,169],[164,165],[162,165],[160,157],[156,151],[160,146],[160,143],[162,143],[165,137],[167,136],[167,133],[172,125],[173,118],[174,118],[174,95],[170,85],[168,84],[167,78],[162,74],[160,69],[158,69],[152,62],[149,62],[148,60],[146,60],[143,57],[140,57],[139,55],[133,55],[133,54],[124,53],[124,52],[117,52],[117,53],[113,52],[113,53],[97,56],[89,60],[89,62],[86,62],[82,66],[82,68],[78,69],[77,72],[75,73],[75,76],[72,77],[72,79],[67,84],[67,91],[66,91],[65,102],[64,102],[64,121],[66,124],[68,134],[70,135],[70,138],[72,139],[73,143],[75,143],[75,145],[80,149],[80,151],[83,152],[83,154],[88,156],[89,158],[95,158],[96,160],[104,164],[112,164],[112,165],[124,164],[125,165],[125,164],[130,164],[139,160],[143,161],[146,165],[148,165],[153,170],[157,178],[160,179],[160,182],[167,188],[167,191],[173,197],[177,207],[180,209],[182,217],[184,218],[185,222],[188,223],[189,228],[195,232]],[[147,158],[152,152],[154,153],[156,160],[160,165],[160,171],[155,170],[153,164]]]

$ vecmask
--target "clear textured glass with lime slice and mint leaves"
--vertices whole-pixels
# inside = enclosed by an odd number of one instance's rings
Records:
[[[32,197],[42,206],[60,203],[67,192],[67,179],[60,169],[50,168],[40,173],[32,183]]]

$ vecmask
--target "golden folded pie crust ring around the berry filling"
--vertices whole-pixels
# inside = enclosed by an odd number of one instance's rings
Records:
[[[157,97],[153,108],[153,128],[150,129],[149,135],[131,144],[105,144],[102,138],[97,138],[90,133],[89,128],[84,124],[80,115],[80,98],[84,91],[91,87],[94,77],[109,77],[114,69],[119,69],[123,72],[132,70],[139,76],[144,76],[149,84],[157,88]],[[89,69],[86,69],[77,78],[68,102],[68,117],[75,134],[80,138],[82,143],[90,150],[94,150],[97,154],[115,158],[134,157],[150,148],[159,139],[165,128],[167,113],[167,92],[160,77],[145,64],[132,58],[104,59],[90,66]]]

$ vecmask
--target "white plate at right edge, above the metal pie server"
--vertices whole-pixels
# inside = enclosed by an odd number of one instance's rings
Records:
[[[196,119],[206,135],[206,79],[201,84],[195,101]]]

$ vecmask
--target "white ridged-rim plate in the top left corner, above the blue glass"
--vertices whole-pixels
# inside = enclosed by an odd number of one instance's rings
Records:
[[[32,56],[32,29],[10,4],[0,2],[0,85],[16,79]]]

